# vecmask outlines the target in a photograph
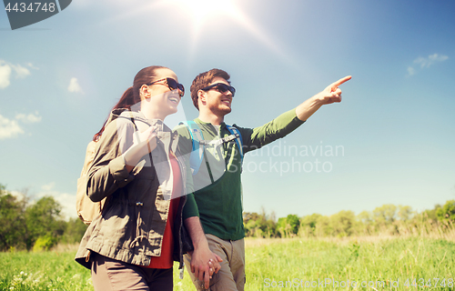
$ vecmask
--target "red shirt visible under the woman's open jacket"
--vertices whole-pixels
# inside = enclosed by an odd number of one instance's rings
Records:
[[[169,212],[167,214],[167,224],[163,241],[161,244],[161,256],[152,256],[150,265],[146,266],[155,269],[168,269],[174,266],[172,253],[174,252],[174,219],[177,215],[178,205],[180,202],[180,194],[182,192],[182,180],[180,175],[180,166],[178,166],[177,157],[173,153],[169,154],[170,164],[172,166],[173,187],[172,197],[169,204]],[[177,198],[174,198],[178,196]]]

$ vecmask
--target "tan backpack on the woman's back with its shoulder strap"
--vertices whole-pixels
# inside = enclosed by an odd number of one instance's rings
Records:
[[[135,124],[133,116],[130,116],[131,122],[135,125],[137,131],[137,126]],[[98,139],[99,140],[99,139]],[[98,141],[97,140],[97,141]],[[86,146],[86,160],[84,161],[84,166],[82,167],[81,176],[77,179],[77,192],[76,192],[76,212],[77,216],[86,224],[90,223],[99,216],[103,211],[103,207],[106,205],[106,199],[99,202],[93,202],[86,195],[86,182],[88,178],[88,170],[93,164],[95,159],[97,141],[91,141]]]

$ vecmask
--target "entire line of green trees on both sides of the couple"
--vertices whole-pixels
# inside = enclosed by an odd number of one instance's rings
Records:
[[[79,243],[86,225],[78,218],[66,221],[61,212],[62,206],[52,196],[31,201],[26,196],[12,195],[0,185],[0,251],[49,250],[58,243]],[[455,200],[421,213],[413,211],[410,206],[384,205],[358,216],[346,210],[332,216],[288,215],[278,220],[274,213],[267,215],[265,211],[243,214],[246,236],[252,237],[441,233],[453,229],[454,221]]]

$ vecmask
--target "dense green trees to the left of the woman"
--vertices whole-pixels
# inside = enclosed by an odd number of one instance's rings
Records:
[[[78,218],[66,221],[61,212],[52,196],[30,201],[0,185],[0,251],[48,250],[57,243],[78,243],[86,225]]]

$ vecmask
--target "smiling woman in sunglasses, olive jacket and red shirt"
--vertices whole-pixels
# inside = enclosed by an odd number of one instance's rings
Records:
[[[173,261],[181,268],[191,251],[183,220],[199,254],[197,267],[206,270],[202,276],[218,269],[198,217],[189,217],[196,207],[186,195],[191,171],[178,155],[177,134],[163,123],[184,93],[173,71],[148,66],[94,136],[99,141],[86,194],[94,202],[106,197],[106,205],[88,226],[76,261],[91,268],[96,290],[172,290]]]

